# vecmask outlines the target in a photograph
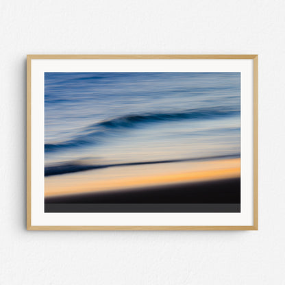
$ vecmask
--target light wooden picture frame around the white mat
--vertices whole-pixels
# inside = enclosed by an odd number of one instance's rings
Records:
[[[253,225],[251,226],[32,226],[31,213],[31,64],[33,59],[252,59],[253,60]],[[27,230],[183,231],[258,230],[258,55],[27,55]]]

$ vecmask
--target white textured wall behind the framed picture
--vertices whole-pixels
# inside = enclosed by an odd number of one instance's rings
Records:
[[[284,1],[0,1],[0,284],[284,284]],[[27,53],[258,53],[258,232],[27,232]]]

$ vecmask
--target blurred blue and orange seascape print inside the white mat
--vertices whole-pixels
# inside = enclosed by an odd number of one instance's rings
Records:
[[[240,212],[240,73],[45,73],[45,212]]]

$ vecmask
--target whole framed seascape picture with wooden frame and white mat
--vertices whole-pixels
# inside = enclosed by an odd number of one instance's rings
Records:
[[[258,230],[258,55],[27,55],[27,230]]]

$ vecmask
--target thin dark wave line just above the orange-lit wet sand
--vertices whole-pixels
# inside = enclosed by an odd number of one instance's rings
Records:
[[[154,160],[146,162],[126,162],[117,164],[86,164],[84,161],[79,160],[75,162],[62,162],[53,166],[45,167],[45,176],[61,175],[66,173],[75,173],[79,171],[88,171],[91,169],[105,169],[115,166],[136,166],[146,164],[160,164],[160,163],[173,163],[173,162],[190,162],[190,161],[203,161],[203,160],[221,160],[230,158],[240,158],[240,153],[225,155],[225,156],[207,156],[201,158],[184,158],[177,160]]]

